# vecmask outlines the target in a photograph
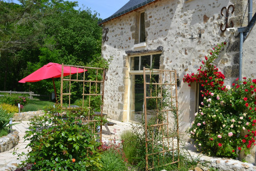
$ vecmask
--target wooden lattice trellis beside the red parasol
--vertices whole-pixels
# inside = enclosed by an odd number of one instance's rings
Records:
[[[70,67],[70,74],[64,78],[63,77],[63,68],[65,67]],[[72,79],[71,78],[71,67],[75,67],[77,68],[77,73],[76,73],[76,79]],[[82,68],[83,72],[81,74],[83,74],[82,79],[78,79],[78,68]],[[93,77],[94,79],[90,79],[90,80],[86,80],[86,72],[93,70],[93,72],[95,72],[95,77]],[[101,72],[99,72],[101,71]],[[100,78],[100,80],[99,80]],[[70,101],[71,101],[71,96],[72,96],[72,92],[71,92],[71,83],[72,82],[80,82],[83,84],[83,91],[82,91],[82,107],[84,107],[84,102],[85,102],[85,98],[87,96],[89,96],[89,101],[87,102],[87,109],[88,109],[88,117],[84,117],[84,118],[79,118],[82,121],[82,124],[89,124],[89,123],[93,123],[92,126],[92,133],[95,135],[99,135],[100,137],[100,142],[102,141],[102,117],[103,117],[103,99],[104,99],[104,81],[105,81],[105,69],[104,68],[94,68],[94,67],[84,67],[84,66],[73,66],[73,65],[64,65],[62,64],[62,70],[61,70],[61,85],[60,85],[60,105],[63,109],[72,109],[73,107],[70,105]],[[63,93],[63,82],[69,82],[69,92],[68,93]],[[89,92],[86,93],[85,92],[85,88],[84,87],[89,87]],[[92,89],[92,87],[95,86],[94,89]],[[100,91],[98,91],[98,88],[100,86]],[[94,91],[94,92],[92,92]],[[69,96],[69,105],[68,107],[63,107],[63,96]],[[91,97],[92,96],[100,96],[101,97],[101,106],[100,106],[100,116],[101,119],[100,120],[96,120],[95,119],[95,115],[94,115],[94,111],[92,111],[91,108]],[[96,123],[100,123],[100,130],[96,131]]]

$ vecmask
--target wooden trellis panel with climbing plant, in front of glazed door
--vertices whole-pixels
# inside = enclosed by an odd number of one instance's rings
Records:
[[[143,80],[146,171],[175,163],[179,167],[177,72],[144,67]],[[147,105],[154,106],[154,117],[148,118]]]

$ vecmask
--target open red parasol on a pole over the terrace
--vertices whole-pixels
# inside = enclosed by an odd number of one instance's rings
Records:
[[[54,78],[61,77],[61,68],[62,68],[62,66],[60,64],[49,63],[49,64],[44,65],[43,67],[37,69],[35,72],[29,74],[27,77],[20,80],[19,83],[37,82],[37,81],[52,78],[54,92],[55,92],[55,99],[57,102],[57,94],[56,94],[56,88],[55,88],[55,84],[54,84]],[[81,73],[83,71],[87,71],[87,70],[83,70],[81,68],[65,66],[63,68],[63,76],[65,77],[67,75],[74,74],[74,73]]]

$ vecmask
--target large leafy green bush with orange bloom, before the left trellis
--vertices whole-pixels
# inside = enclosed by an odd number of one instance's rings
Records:
[[[25,139],[31,151],[24,162],[34,163],[34,170],[101,170],[96,142],[88,124],[75,120],[76,113],[58,116],[60,106],[49,106],[45,115],[31,120]]]

